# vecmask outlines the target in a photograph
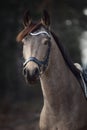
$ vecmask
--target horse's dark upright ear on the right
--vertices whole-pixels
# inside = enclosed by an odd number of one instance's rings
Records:
[[[41,22],[46,27],[50,26],[50,16],[46,10],[43,11],[43,16],[42,16]]]

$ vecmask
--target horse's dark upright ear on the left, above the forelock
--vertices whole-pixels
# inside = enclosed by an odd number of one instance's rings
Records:
[[[24,13],[24,18],[23,18],[23,25],[26,27],[26,26],[29,26],[31,24],[31,15],[30,15],[30,12],[29,10],[27,10],[25,13]]]

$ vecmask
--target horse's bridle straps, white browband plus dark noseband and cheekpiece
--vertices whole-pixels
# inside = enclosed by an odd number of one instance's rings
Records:
[[[32,36],[37,36],[40,34],[46,34],[49,38],[51,38],[50,34],[46,31],[40,31],[40,32],[35,32],[35,33],[30,33],[30,35]],[[50,48],[51,48],[51,43],[48,44],[48,50],[45,56],[45,59],[43,61],[38,60],[35,57],[29,57],[24,63],[23,63],[23,67],[25,67],[27,65],[27,63],[29,63],[30,61],[35,62],[38,66],[40,71],[43,69],[43,71],[45,71],[45,69],[48,66],[48,60],[49,60],[49,54],[50,54]]]

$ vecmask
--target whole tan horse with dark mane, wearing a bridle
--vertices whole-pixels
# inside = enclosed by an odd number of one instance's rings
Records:
[[[17,41],[23,43],[24,77],[30,84],[39,79],[43,93],[40,130],[87,130],[80,70],[51,31],[49,13],[44,11],[35,22],[27,11],[23,25]]]

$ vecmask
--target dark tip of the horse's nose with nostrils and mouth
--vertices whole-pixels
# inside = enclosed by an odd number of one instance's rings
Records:
[[[39,79],[39,69],[35,67],[34,69],[30,70],[28,68],[23,69],[23,74],[28,83],[34,84]]]

